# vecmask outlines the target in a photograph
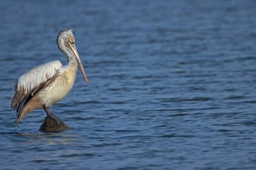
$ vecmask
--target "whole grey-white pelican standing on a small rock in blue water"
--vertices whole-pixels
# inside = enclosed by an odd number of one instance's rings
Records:
[[[73,30],[60,31],[57,36],[57,46],[65,53],[68,64],[62,66],[58,60],[50,61],[30,69],[18,78],[11,105],[11,108],[16,110],[16,126],[27,114],[41,108],[48,117],[60,124],[60,118],[52,114],[49,107],[66,97],[71,90],[76,79],[77,66],[88,83],[74,42]]]

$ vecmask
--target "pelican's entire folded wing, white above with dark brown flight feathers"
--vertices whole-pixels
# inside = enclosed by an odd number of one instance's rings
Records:
[[[19,116],[30,98],[59,72],[60,67],[62,67],[60,61],[51,61],[30,69],[20,76],[15,84],[15,94],[12,98],[11,106],[12,109],[16,109],[17,116]]]

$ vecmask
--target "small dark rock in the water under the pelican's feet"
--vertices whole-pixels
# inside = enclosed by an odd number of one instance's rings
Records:
[[[71,129],[71,127],[66,126],[63,121],[58,124],[54,119],[51,117],[45,117],[43,124],[41,124],[41,127],[39,131],[41,132],[62,132],[66,131],[68,129]]]

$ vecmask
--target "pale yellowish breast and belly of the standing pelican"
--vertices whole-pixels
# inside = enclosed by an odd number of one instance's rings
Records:
[[[41,100],[41,104],[45,104],[46,107],[52,106],[57,101],[62,100],[74,85],[77,75],[76,67],[63,67],[60,70],[54,82],[49,84],[48,87],[41,90],[38,97]]]

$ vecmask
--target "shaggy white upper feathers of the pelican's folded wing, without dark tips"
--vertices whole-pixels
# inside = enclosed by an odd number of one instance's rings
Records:
[[[62,63],[59,60],[55,60],[30,69],[18,79],[17,90],[23,92],[25,95],[28,94],[41,83],[54,77],[61,67]]]

